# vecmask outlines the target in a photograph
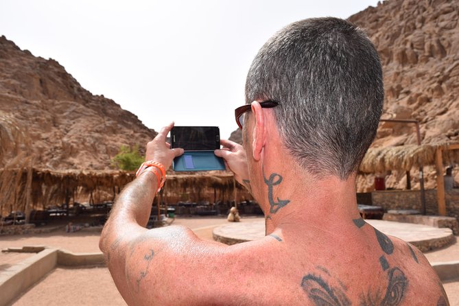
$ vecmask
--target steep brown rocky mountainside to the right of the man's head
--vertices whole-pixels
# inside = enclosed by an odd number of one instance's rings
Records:
[[[384,119],[416,119],[422,143],[459,142],[459,1],[388,0],[349,17],[375,44],[384,71]],[[241,141],[240,131],[231,135]],[[373,146],[416,144],[414,124],[381,123]],[[456,180],[459,169],[456,166]],[[417,170],[412,186],[419,188]],[[435,186],[425,167],[426,187]],[[357,180],[373,189],[373,176]],[[405,188],[405,173],[392,172],[386,186]]]

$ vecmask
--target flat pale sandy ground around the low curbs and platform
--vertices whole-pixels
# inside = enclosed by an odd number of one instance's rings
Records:
[[[243,222],[260,217],[245,217]],[[215,226],[228,224],[224,217],[180,217],[174,224],[189,226],[202,239],[212,240]],[[0,237],[0,248],[45,245],[73,252],[99,252],[99,232],[55,231],[41,235]],[[0,253],[0,273],[4,268],[29,257],[23,253]],[[451,246],[425,253],[430,262],[458,261],[458,239]],[[451,305],[459,306],[459,279],[444,283]],[[12,305],[126,305],[106,268],[56,268],[25,292]]]

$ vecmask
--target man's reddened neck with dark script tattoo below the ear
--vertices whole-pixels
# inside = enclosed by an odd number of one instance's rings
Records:
[[[317,180],[298,167],[262,171],[265,187],[259,202],[265,213],[266,235],[277,228],[302,233],[301,228],[320,227],[327,233],[353,226],[352,221],[360,217],[355,176]]]

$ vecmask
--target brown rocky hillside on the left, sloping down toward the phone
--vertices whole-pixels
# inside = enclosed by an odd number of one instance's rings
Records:
[[[113,100],[83,89],[56,60],[0,37],[0,167],[22,150],[34,167],[108,169],[121,145],[143,147],[155,134]]]

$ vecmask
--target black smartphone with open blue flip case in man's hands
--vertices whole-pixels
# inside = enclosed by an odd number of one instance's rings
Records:
[[[215,156],[220,149],[220,129],[217,126],[174,126],[171,148],[183,148],[184,154],[174,158],[174,171],[224,170],[222,158]]]

